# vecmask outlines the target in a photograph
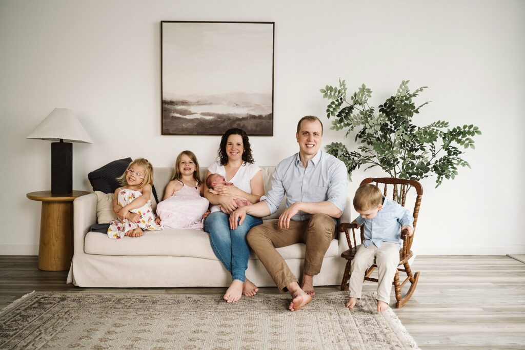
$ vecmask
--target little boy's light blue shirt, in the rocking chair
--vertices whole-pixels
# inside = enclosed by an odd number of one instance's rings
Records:
[[[414,217],[408,209],[396,201],[388,200],[383,196],[383,208],[377,212],[373,219],[363,219],[358,216],[355,221],[360,226],[364,224],[363,245],[368,248],[372,243],[381,248],[381,243],[392,242],[402,246],[401,226],[413,226]]]

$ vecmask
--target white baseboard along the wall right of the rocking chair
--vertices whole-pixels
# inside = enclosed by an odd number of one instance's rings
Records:
[[[466,247],[417,247],[412,246],[417,255],[507,255],[525,254],[525,246],[466,246]]]

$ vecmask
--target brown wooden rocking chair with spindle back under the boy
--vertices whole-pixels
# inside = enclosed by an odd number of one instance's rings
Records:
[[[397,267],[397,271],[395,272],[394,277],[394,289],[395,289],[395,298],[397,300],[397,303],[395,304],[395,307],[401,307],[403,306],[412,296],[414,293],[414,290],[416,289],[417,280],[419,279],[419,271],[412,274],[412,271],[410,270],[410,266],[408,264],[408,260],[412,258],[413,253],[411,250],[412,247],[412,241],[415,236],[415,230],[416,230],[416,224],[417,224],[417,216],[419,214],[419,206],[421,205],[421,197],[423,196],[423,187],[421,184],[415,180],[405,180],[405,179],[399,179],[399,178],[392,178],[392,177],[378,177],[378,178],[365,178],[361,185],[364,184],[370,184],[372,182],[375,182],[377,186],[379,184],[384,184],[384,192],[383,195],[386,197],[387,195],[387,185],[392,185],[393,187],[393,200],[400,199],[398,203],[400,203],[402,206],[405,206],[405,200],[406,200],[406,194],[407,190],[411,187],[414,187],[416,190],[416,199],[414,204],[414,234],[412,236],[407,237],[406,231],[401,232],[401,239],[403,240],[403,248],[400,250],[400,261]],[[398,192],[398,187],[400,187],[400,190]],[[341,281],[341,290],[348,290],[348,280],[350,278],[350,264],[352,263],[352,259],[354,258],[355,252],[359,249],[359,246],[356,245],[355,241],[355,229],[357,228],[357,225],[355,224],[349,224],[348,222],[343,222],[339,225],[339,231],[345,232],[346,234],[346,240],[348,241],[348,247],[349,250],[346,250],[341,254],[341,257],[348,260],[346,261],[346,267],[344,268],[344,274],[343,274],[343,280]],[[353,245],[350,239],[349,229],[352,229],[352,236],[353,236]],[[361,242],[364,241],[364,225],[361,226]],[[374,263],[372,266],[366,270],[364,280],[365,281],[372,281],[377,282],[376,278],[371,278],[370,275],[372,274],[372,271],[377,267]],[[400,283],[399,281],[399,272],[406,272],[407,278]],[[408,288],[408,292],[402,297],[401,296],[401,288],[407,283],[410,282],[411,286]]]

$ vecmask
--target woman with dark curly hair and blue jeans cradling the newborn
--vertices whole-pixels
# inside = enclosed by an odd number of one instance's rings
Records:
[[[204,196],[212,204],[211,213],[204,220],[204,231],[209,233],[215,255],[232,274],[232,284],[224,294],[228,303],[238,301],[243,294],[253,296],[259,290],[245,277],[250,256],[246,235],[250,228],[262,224],[262,220],[247,215],[243,225],[235,230],[229,228],[229,214],[237,209],[236,197],[257,203],[264,195],[261,169],[253,163],[246,132],[237,128],[226,130],[220,139],[218,161],[209,166],[206,177],[217,173],[233,185],[217,185],[217,195],[209,192],[204,184]]]

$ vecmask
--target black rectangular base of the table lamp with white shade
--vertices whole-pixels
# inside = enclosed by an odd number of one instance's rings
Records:
[[[51,194],[73,193],[73,144],[51,143]]]

